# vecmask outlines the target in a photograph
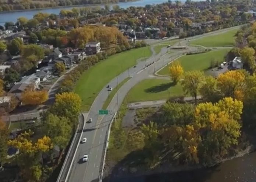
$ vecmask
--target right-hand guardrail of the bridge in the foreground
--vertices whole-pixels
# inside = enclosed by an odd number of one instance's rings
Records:
[[[102,177],[103,177],[103,172],[104,172],[104,166],[105,166],[105,160],[106,160],[106,155],[107,155],[107,148],[109,146],[109,136],[110,136],[110,130],[111,130],[111,126],[112,126],[112,123],[114,121],[114,118],[115,118],[115,115],[117,113],[115,112],[113,118],[111,119],[111,122],[109,124],[109,128],[108,128],[108,131],[107,131],[107,134],[106,134],[106,137],[105,137],[105,142],[104,142],[104,151],[102,153],[103,157],[102,157],[102,161],[101,161],[101,164],[100,164],[100,170],[99,170],[99,182],[102,182]]]

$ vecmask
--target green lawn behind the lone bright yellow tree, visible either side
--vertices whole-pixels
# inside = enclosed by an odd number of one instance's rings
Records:
[[[211,60],[221,63],[224,61],[224,56],[230,49],[219,49],[201,54],[186,55],[178,60],[181,63],[184,71],[191,70],[207,70],[210,67]],[[164,67],[158,72],[159,75],[169,75],[169,66]]]

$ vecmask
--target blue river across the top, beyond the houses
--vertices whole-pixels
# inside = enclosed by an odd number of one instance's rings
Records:
[[[185,0],[182,0],[185,1]],[[130,6],[145,6],[146,4],[160,4],[163,2],[167,2],[167,0],[139,0],[139,1],[132,1],[132,2],[122,2],[118,3],[118,5],[121,8],[127,8]],[[115,5],[115,4],[113,4]],[[83,7],[83,6],[79,6]],[[78,8],[79,8],[78,7]],[[102,5],[104,7],[104,5]],[[44,10],[28,10],[28,11],[14,11],[14,12],[6,12],[6,13],[0,13],[0,25],[4,25],[5,22],[16,22],[17,18],[24,16],[28,19],[33,18],[33,15],[35,15],[38,12],[47,12],[49,14],[59,14],[60,10],[71,10],[73,7],[61,7],[61,8],[50,8],[50,9],[44,9]]]

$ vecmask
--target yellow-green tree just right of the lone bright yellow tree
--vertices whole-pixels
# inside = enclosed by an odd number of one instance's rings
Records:
[[[189,93],[195,98],[195,104],[197,103],[197,94],[199,86],[204,79],[202,71],[188,71],[184,73],[184,79],[181,82],[184,92]]]

